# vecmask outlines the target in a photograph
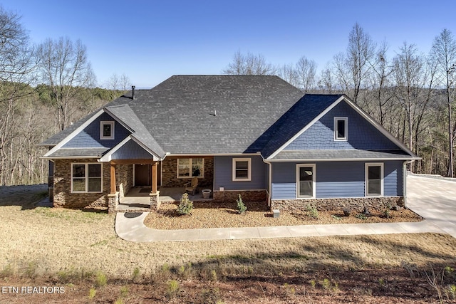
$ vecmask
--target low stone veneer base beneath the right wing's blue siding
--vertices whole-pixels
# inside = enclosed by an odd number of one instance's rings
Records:
[[[318,211],[341,210],[344,207],[348,207],[355,212],[363,211],[364,207],[367,207],[369,210],[382,211],[389,206],[404,206],[404,200],[402,196],[392,196],[343,199],[282,199],[271,201],[271,209],[285,211],[296,209],[305,211],[309,205],[316,207]]]

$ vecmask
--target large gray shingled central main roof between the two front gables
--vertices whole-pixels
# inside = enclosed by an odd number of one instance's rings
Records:
[[[276,76],[176,75],[108,108],[128,104],[165,152],[258,152],[302,95]]]

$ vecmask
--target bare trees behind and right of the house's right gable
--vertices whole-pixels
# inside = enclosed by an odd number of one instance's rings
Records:
[[[456,41],[443,29],[428,53],[404,42],[388,57],[388,43],[373,41],[355,23],[346,51],[317,74],[315,61],[273,65],[261,54],[234,54],[227,75],[279,75],[304,93],[344,93],[422,157],[412,172],[454,177]]]

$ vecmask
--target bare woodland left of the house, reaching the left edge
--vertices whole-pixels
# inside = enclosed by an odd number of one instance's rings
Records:
[[[123,74],[98,88],[81,41],[48,38],[33,45],[21,16],[0,6],[0,185],[46,182],[37,144],[122,95]]]

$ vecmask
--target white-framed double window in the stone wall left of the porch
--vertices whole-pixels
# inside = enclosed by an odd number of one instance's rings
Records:
[[[102,192],[101,164],[71,164],[71,192]]]

